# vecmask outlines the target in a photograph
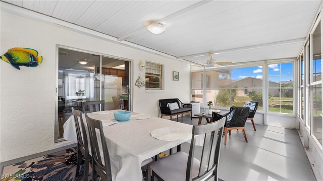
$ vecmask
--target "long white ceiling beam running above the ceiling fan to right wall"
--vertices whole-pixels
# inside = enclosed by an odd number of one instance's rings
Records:
[[[234,52],[234,51],[244,51],[244,50],[250,50],[250,49],[270,47],[270,46],[293,44],[293,43],[299,43],[299,42],[304,42],[304,41],[305,41],[305,38],[298,38],[298,39],[293,39],[293,40],[285,40],[285,41],[279,41],[279,42],[265,43],[265,44],[252,45],[252,46],[246,46],[246,47],[240,47],[240,48],[232,48],[232,49],[225,49],[225,50],[214,50],[214,51],[210,51],[210,52],[179,56],[177,58],[182,59],[182,58],[185,58],[185,57],[194,57],[194,56],[198,56],[198,55],[207,55],[208,53],[220,54],[220,53],[229,53],[229,52]]]

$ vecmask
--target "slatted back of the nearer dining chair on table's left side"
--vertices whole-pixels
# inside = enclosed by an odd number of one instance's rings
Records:
[[[89,131],[89,138],[92,150],[93,169],[100,175],[102,180],[112,180],[110,155],[107,149],[102,121],[92,119],[85,114],[86,123]],[[98,139],[99,138],[99,139]],[[103,160],[99,145],[102,148]],[[103,163],[104,162],[104,163]]]

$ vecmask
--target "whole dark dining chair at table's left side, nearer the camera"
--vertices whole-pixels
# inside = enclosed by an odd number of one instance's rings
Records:
[[[111,161],[109,151],[107,150],[107,144],[103,133],[102,121],[89,118],[87,113],[85,114],[87,128],[89,132],[90,145],[92,150],[92,180],[96,180],[97,174],[102,180],[112,180]],[[99,132],[100,140],[97,139],[96,130]],[[102,155],[99,150],[99,145],[102,148]],[[103,161],[102,161],[103,160]],[[141,163],[141,170],[145,171],[146,180],[150,181],[150,163],[152,158],[148,158]]]

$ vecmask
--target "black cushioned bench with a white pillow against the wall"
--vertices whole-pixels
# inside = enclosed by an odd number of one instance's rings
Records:
[[[178,121],[178,115],[182,115],[183,118],[184,113],[190,113],[192,120],[192,105],[183,104],[179,99],[174,98],[159,100],[159,108],[161,113],[160,118],[163,118],[163,116],[170,116],[172,120],[173,116],[177,116]]]

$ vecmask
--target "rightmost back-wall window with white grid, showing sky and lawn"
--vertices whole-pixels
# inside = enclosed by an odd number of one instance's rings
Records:
[[[294,113],[293,62],[268,64],[268,112]]]

